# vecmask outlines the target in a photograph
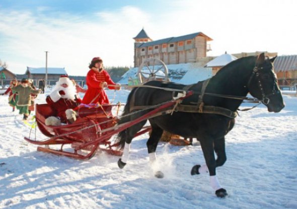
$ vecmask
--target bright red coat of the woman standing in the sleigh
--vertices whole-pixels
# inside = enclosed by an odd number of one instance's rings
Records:
[[[100,87],[102,82],[106,82],[108,85],[116,85],[104,69],[101,72],[95,72],[93,69],[90,69],[86,78],[88,90],[83,98],[83,104],[96,104],[97,102],[100,104],[109,104],[104,89]],[[108,88],[115,89],[115,87]]]

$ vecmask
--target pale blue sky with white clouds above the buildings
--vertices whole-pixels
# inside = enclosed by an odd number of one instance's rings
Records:
[[[203,32],[209,56],[269,51],[297,54],[297,1],[1,0],[0,59],[24,74],[26,67],[65,67],[86,75],[90,60],[132,66],[132,39],[144,27],[153,40]]]

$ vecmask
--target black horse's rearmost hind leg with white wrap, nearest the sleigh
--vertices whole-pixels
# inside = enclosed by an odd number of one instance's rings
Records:
[[[129,159],[129,152],[130,152],[130,147],[131,147],[131,142],[134,137],[134,135],[141,130],[143,125],[146,123],[146,120],[141,121],[129,128],[127,128],[125,131],[125,146],[123,150],[123,155],[122,157],[118,160],[118,166],[119,168],[124,168],[124,166],[127,164],[127,161]]]

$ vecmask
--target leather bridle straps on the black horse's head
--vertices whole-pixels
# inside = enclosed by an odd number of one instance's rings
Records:
[[[249,79],[249,81],[248,81],[248,87],[250,86],[250,83],[251,83],[251,81],[252,81],[252,79],[254,78],[254,76],[257,78],[257,80],[258,80],[258,87],[259,87],[259,89],[260,89],[260,91],[261,91],[261,96],[262,96],[262,99],[260,99],[260,101],[263,103],[263,104],[265,104],[265,105],[267,105],[267,104],[269,104],[269,101],[270,101],[270,99],[269,99],[269,97],[270,96],[272,96],[272,95],[275,95],[275,94],[279,94],[280,93],[280,89],[278,88],[278,86],[277,86],[277,82],[276,82],[276,78],[274,77],[274,83],[273,83],[273,89],[272,89],[272,93],[270,93],[270,94],[265,94],[265,92],[264,92],[264,89],[263,89],[263,85],[262,85],[262,83],[261,83],[261,80],[260,80],[260,78],[259,78],[259,76],[260,76],[260,74],[259,74],[259,71],[261,70],[261,69],[263,69],[263,68],[265,68],[265,67],[258,67],[258,66],[255,66],[254,68],[253,68],[253,73],[252,73],[252,75],[251,75],[251,77],[250,77],[250,79]]]

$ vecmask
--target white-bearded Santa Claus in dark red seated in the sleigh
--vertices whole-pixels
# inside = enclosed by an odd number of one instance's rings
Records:
[[[76,87],[67,75],[62,75],[50,95],[46,97],[46,103],[51,106],[56,117],[47,118],[45,124],[60,125],[61,122],[74,122],[77,114],[73,109],[76,109],[81,102],[76,93]]]

